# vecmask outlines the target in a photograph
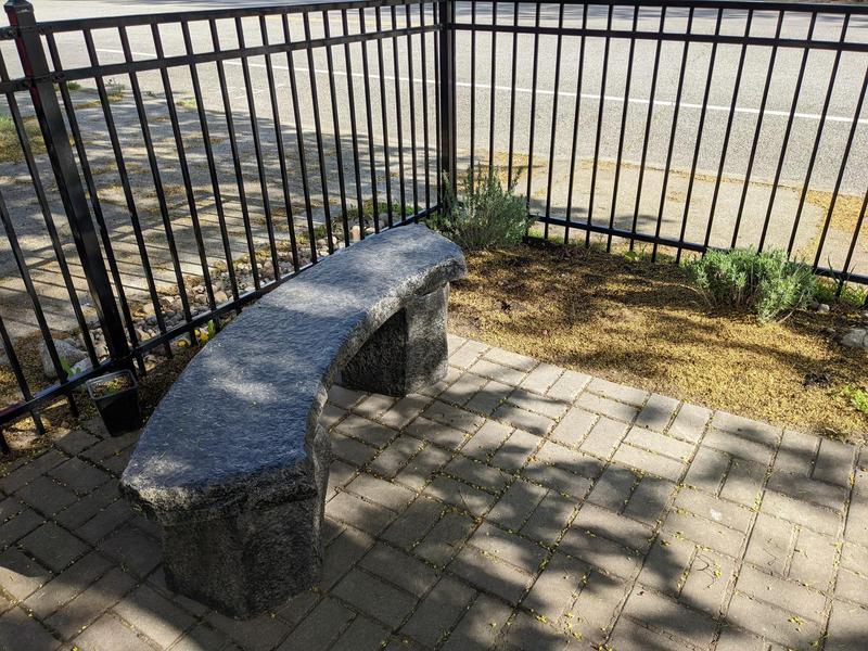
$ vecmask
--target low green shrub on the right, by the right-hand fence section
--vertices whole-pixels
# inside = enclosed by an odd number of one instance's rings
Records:
[[[748,307],[763,323],[806,307],[817,291],[810,267],[782,251],[710,251],[685,269],[710,305]]]

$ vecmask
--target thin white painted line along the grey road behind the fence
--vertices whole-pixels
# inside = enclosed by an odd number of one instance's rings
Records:
[[[123,54],[124,53],[123,50],[112,50],[112,49],[107,49],[107,48],[97,48],[97,51],[98,52],[111,53],[111,54]],[[133,52],[132,54],[135,56],[141,56],[141,58],[144,58],[144,59],[155,59],[154,54],[146,53],[146,52]],[[225,65],[237,65],[237,66],[240,66],[241,62],[240,61],[227,60],[227,61],[224,61],[224,64]],[[250,67],[256,67],[256,68],[265,68],[266,67],[266,65],[264,63],[248,62],[248,65],[250,65]],[[289,66],[272,65],[272,67],[276,71],[289,71]],[[296,73],[307,74],[307,67],[296,66],[295,67],[295,72]],[[329,71],[322,69],[322,68],[314,68],[314,72],[317,75],[324,75],[324,76],[328,76],[330,74]],[[343,72],[343,71],[334,71],[333,75],[334,76],[339,76],[339,77],[346,77],[346,73]],[[353,73],[353,77],[359,78],[359,79],[363,79],[365,78],[365,74],[363,73]],[[379,80],[380,76],[371,73],[369,75],[369,78]],[[386,80],[386,81],[395,81],[396,77],[386,75],[386,76],[383,77],[383,79]],[[406,84],[410,82],[410,79],[408,77],[397,77],[397,80],[406,82]],[[413,84],[421,85],[422,80],[421,79],[413,79]],[[434,79],[429,79],[427,84],[430,86],[433,86],[434,85]],[[469,81],[457,81],[456,86],[461,87],[461,88],[472,88],[472,85]],[[492,86],[489,84],[476,84],[475,86],[476,86],[476,89],[482,89],[482,90],[490,90],[490,88],[492,88]],[[509,86],[497,86],[496,85],[495,86],[495,90],[498,91],[498,92],[507,92],[507,93],[511,92],[511,88]],[[515,88],[515,92],[516,93],[522,93],[522,94],[531,94],[531,93],[533,93],[533,89],[518,87],[518,88]],[[553,90],[548,90],[548,89],[542,89],[542,88],[538,88],[536,92],[537,92],[537,95],[553,95],[554,94]],[[576,93],[567,91],[567,90],[562,90],[562,91],[558,92],[558,95],[562,97],[562,98],[575,98]],[[241,98],[241,97],[244,97],[244,95],[239,95],[239,97]],[[582,99],[583,100],[599,101],[600,100],[600,95],[596,94],[596,93],[583,92],[582,93]],[[623,97],[618,97],[618,95],[604,95],[603,100],[605,102],[615,102],[615,103],[623,103],[624,102],[624,98]],[[628,98],[627,101],[630,104],[641,104],[641,105],[644,105],[644,106],[647,106],[649,104],[649,102],[650,102],[650,100],[647,99],[647,98]],[[663,107],[666,107],[666,108],[673,108],[673,107],[675,107],[675,102],[673,100],[654,100],[654,106],[663,106]],[[693,111],[701,111],[702,110],[702,104],[695,104],[695,103],[691,103],[691,102],[681,102],[680,103],[680,110],[685,110],[685,108],[693,110]],[[709,104],[706,106],[706,111],[717,112],[717,113],[729,113],[730,112],[730,107],[729,106],[725,106],[725,105],[719,105],[719,104]],[[758,115],[760,114],[760,108],[754,108],[752,106],[736,106],[735,112],[736,113],[742,113],[742,114],[749,114],[749,115]],[[771,116],[771,117],[787,117],[787,118],[789,118],[790,117],[790,112],[789,111],[776,111],[774,108],[766,108],[763,112],[763,115],[764,116]],[[799,118],[799,119],[817,122],[822,116],[820,114],[818,114],[818,113],[796,112],[796,113],[793,114],[793,117]],[[826,122],[852,124],[853,123],[853,117],[852,116],[844,116],[844,115],[827,115],[826,116]],[[858,119],[858,124],[860,124],[860,125],[868,124],[868,117],[859,118]]]

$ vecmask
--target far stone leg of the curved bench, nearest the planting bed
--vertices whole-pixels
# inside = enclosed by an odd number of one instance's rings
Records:
[[[406,396],[446,375],[449,285],[411,298],[374,332],[341,372],[341,383]]]

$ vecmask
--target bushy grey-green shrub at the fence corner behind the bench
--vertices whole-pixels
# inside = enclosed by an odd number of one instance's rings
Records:
[[[427,222],[465,251],[514,246],[533,222],[514,189],[514,181],[505,189],[492,170],[469,168],[459,182],[460,199],[444,179],[444,209]]]

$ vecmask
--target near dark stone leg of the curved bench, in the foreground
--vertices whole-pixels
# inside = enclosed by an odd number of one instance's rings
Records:
[[[314,587],[322,571],[322,527],[329,481],[329,441],[312,443],[317,494],[231,518],[164,527],[166,583],[239,618],[279,607]]]

